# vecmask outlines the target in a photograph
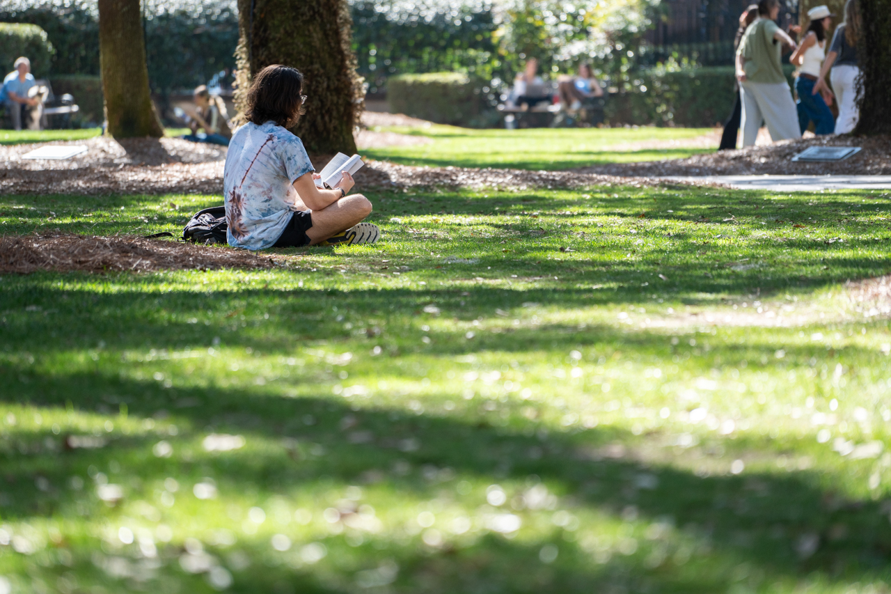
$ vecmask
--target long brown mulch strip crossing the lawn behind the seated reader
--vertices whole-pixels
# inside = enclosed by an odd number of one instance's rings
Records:
[[[386,117],[383,117],[385,116]],[[367,124],[392,125],[413,119],[390,114],[366,114]],[[403,120],[405,119],[405,122]],[[421,120],[418,120],[421,121]],[[369,144],[405,142],[389,132],[360,134]],[[415,142],[414,136],[405,136]],[[87,153],[68,161],[23,161],[21,155],[39,144],[0,146],[0,194],[222,194],[225,148],[180,138],[134,138],[119,143],[98,137],[51,144],[86,144]],[[791,157],[813,145],[862,147],[862,152],[838,163],[796,163]],[[313,158],[321,169],[330,156]],[[690,159],[617,163],[565,171],[521,169],[430,168],[370,161],[356,173],[356,189],[448,186],[525,190],[533,187],[601,185],[655,186],[660,178],[707,175],[888,175],[891,138],[888,136],[818,136],[783,141],[740,151],[705,153]]]

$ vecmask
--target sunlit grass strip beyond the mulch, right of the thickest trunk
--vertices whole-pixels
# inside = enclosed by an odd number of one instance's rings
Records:
[[[429,144],[364,149],[381,161],[430,167],[570,169],[606,163],[683,159],[710,149],[634,148],[635,143],[702,136],[711,128],[535,128],[476,130],[454,126],[378,127],[375,130],[426,136]],[[628,144],[632,144],[629,149]],[[623,146],[624,145],[624,146]]]

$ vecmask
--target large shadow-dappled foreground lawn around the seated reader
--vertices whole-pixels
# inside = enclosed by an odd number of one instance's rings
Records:
[[[381,243],[274,271],[0,276],[0,587],[887,592],[891,333],[842,287],[887,194],[370,197]]]

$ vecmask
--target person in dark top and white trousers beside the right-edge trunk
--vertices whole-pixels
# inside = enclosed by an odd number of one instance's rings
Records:
[[[860,120],[857,78],[860,78],[860,61],[857,56],[857,42],[861,32],[860,7],[857,0],[845,3],[845,22],[838,25],[832,36],[829,54],[820,70],[819,79],[813,85],[813,95],[826,93],[835,95],[838,103],[838,119],[835,122],[836,134],[848,134]],[[832,91],[826,86],[826,73],[830,72]]]

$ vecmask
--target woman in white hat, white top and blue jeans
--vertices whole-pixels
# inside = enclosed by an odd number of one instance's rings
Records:
[[[820,79],[823,60],[826,58],[826,30],[830,28],[834,16],[825,4],[814,6],[807,11],[811,24],[807,27],[801,45],[798,45],[795,53],[789,57],[789,62],[800,67],[795,79],[795,92],[798,95],[796,102],[798,126],[802,134],[812,121],[813,133],[818,136],[832,134],[835,129],[835,118],[832,117],[832,111],[827,105],[832,103],[832,96],[827,93],[824,99],[820,93],[813,92],[813,87]]]

